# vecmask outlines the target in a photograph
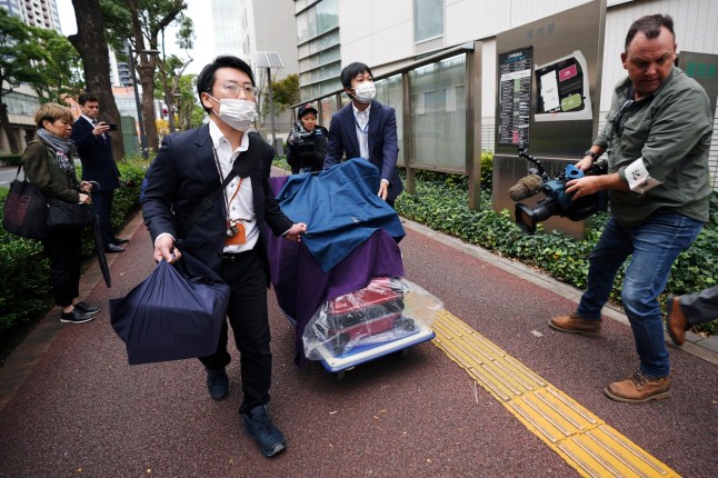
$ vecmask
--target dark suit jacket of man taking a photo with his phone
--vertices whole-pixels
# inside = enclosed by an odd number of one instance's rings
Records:
[[[120,171],[112,159],[112,140],[110,135],[92,135],[94,127],[83,117],[72,123],[72,141],[78,147],[82,162],[82,179],[100,183],[100,191],[111,191],[120,187]]]

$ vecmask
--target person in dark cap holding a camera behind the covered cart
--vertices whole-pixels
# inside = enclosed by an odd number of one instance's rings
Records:
[[[317,125],[317,110],[311,103],[299,107],[299,120],[287,139],[287,162],[291,173],[317,172],[325,166],[327,128]]]

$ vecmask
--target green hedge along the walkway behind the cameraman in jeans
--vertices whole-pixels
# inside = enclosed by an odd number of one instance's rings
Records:
[[[482,158],[483,169],[483,158]],[[483,176],[483,175],[482,175]],[[491,188],[482,177],[481,210],[468,207],[468,178],[458,175],[419,172],[415,195],[401,195],[397,211],[431,229],[481,246],[503,257],[540,268],[549,276],[578,289],[586,288],[588,255],[598,241],[608,215],[591,218],[586,238],[577,240],[560,232],[528,236],[511,220],[508,210],[495,212]],[[539,231],[542,230],[539,225]],[[718,193],[711,196],[710,220],[692,247],[674,265],[665,293],[687,293],[718,283]],[[619,270],[611,299],[620,301],[624,269]],[[718,320],[700,327],[718,332]]]

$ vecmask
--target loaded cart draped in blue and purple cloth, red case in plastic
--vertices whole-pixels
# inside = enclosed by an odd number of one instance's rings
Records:
[[[398,247],[405,231],[377,197],[378,183],[378,170],[365,160],[270,179],[282,211],[308,226],[300,243],[267,235],[271,281],[296,327],[300,367],[319,360],[343,375],[433,338],[430,320],[417,320],[416,308],[408,307],[413,292],[400,279]]]

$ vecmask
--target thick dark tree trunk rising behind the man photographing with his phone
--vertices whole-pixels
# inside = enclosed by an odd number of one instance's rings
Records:
[[[78,50],[84,68],[87,91],[97,94],[100,100],[101,120],[118,125],[118,132],[112,135],[112,156],[114,160],[124,158],[122,141],[122,121],[112,96],[110,82],[110,57],[104,40],[104,21],[99,0],[72,0],[74,17],[78,22],[77,34],[68,37]]]

